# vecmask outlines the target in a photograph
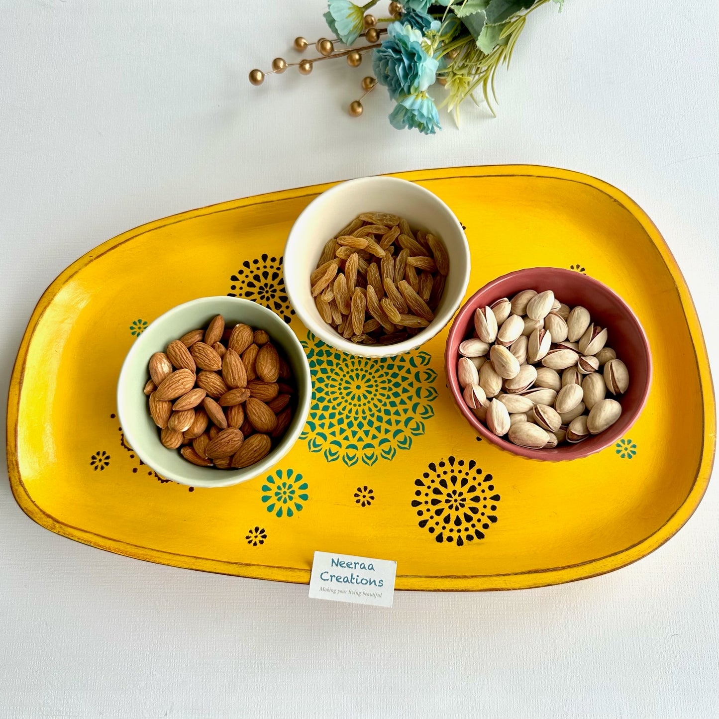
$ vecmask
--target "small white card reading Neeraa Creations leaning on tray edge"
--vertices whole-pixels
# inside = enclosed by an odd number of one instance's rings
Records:
[[[316,551],[310,576],[310,598],[331,602],[391,607],[397,562]]]

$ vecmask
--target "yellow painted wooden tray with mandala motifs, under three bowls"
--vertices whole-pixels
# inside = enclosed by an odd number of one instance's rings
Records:
[[[309,335],[284,292],[282,252],[324,185],[150,222],[50,285],[9,394],[9,475],[27,515],[129,557],[268,580],[308,582],[317,549],[395,559],[397,586],[409,590],[557,584],[623,567],[667,541],[707,486],[715,408],[695,308],[656,227],[617,189],[567,170],[400,176],[439,195],[467,226],[468,293],[518,267],[556,265],[628,301],[649,337],[654,382],[616,446],[557,464],[480,441],[446,389],[446,330],[385,359],[341,354]],[[269,306],[296,331],[313,403],[301,440],[272,470],[235,487],[188,488],[162,480],[127,446],[115,385],[147,323],[224,293]]]

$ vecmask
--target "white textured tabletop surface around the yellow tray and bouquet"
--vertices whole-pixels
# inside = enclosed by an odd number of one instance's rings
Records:
[[[0,0],[2,393],[42,291],[125,229],[326,180],[500,162],[581,170],[635,198],[716,360],[716,2],[545,6],[498,75],[498,119],[467,109],[462,132],[445,116],[429,138],[390,129],[383,91],[359,121],[344,114],[366,68],[249,86],[295,35],[325,34],[322,12]],[[32,523],[0,482],[0,717],[715,717],[718,499],[715,478],[672,541],[604,577],[400,592],[383,610],[91,549]]]

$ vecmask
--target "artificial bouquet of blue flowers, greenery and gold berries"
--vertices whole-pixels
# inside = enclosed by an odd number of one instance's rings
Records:
[[[468,98],[478,105],[475,92],[480,87],[494,114],[490,97],[496,100],[497,68],[509,65],[529,14],[549,1],[404,0],[401,5],[390,3],[390,17],[377,18],[367,12],[377,0],[362,6],[349,0],[329,0],[324,18],[334,38],[321,37],[314,43],[319,58],[297,63],[275,58],[272,70],[252,70],[249,81],[260,85],[265,75],[283,73],[290,66],[309,75],[314,63],[331,58],[347,58],[347,63],[357,68],[365,54],[372,52],[373,74],[362,79],[365,92],[349,104],[349,114],[360,116],[362,99],[380,84],[395,102],[390,112],[393,127],[434,134],[441,129],[438,108],[454,113],[459,124],[459,106]],[[562,9],[564,0],[552,1]],[[361,44],[355,45],[358,41]],[[298,52],[309,45],[303,37],[294,41]],[[444,86],[439,104],[436,93],[428,92],[435,83]]]

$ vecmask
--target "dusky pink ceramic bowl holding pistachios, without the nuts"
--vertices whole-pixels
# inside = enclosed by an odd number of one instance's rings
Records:
[[[582,305],[589,310],[592,321],[609,329],[608,347],[615,349],[629,370],[629,388],[618,399],[622,406],[622,415],[609,429],[601,434],[590,436],[579,444],[560,444],[554,449],[525,449],[512,444],[508,439],[490,432],[473,414],[462,398],[462,388],[457,382],[457,360],[459,344],[472,336],[474,316],[477,307],[493,303],[502,297],[511,299],[521,290],[552,290],[561,302],[569,306]],[[580,459],[599,452],[600,449],[614,444],[633,425],[644,409],[651,385],[651,352],[646,334],[636,315],[617,293],[606,285],[587,275],[558,267],[533,267],[528,270],[503,275],[478,290],[464,303],[457,313],[452,329],[447,337],[444,353],[449,390],[464,418],[487,441],[506,449],[513,454],[531,459],[549,459],[558,462],[562,459]],[[608,397],[612,397],[607,393]]]

